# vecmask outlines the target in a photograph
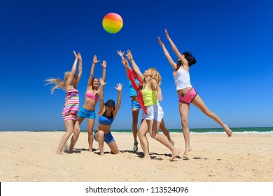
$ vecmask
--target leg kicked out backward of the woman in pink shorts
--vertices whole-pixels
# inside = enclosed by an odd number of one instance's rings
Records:
[[[223,123],[222,120],[215,113],[213,113],[207,108],[206,104],[204,104],[203,100],[198,94],[195,97],[195,99],[193,99],[193,104],[197,106],[197,108],[200,109],[205,115],[209,116],[210,118],[215,120],[216,123],[221,125],[221,127],[223,127],[228,137],[232,136],[232,130],[230,130],[228,125],[225,125],[225,123]]]

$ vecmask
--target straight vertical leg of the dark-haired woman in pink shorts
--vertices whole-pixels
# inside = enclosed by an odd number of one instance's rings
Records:
[[[192,148],[190,147],[190,129],[188,127],[189,111],[190,111],[190,104],[179,102],[179,112],[181,116],[182,130],[183,130],[183,136],[185,141],[185,152],[183,154],[183,157],[185,158],[188,156],[188,152],[192,150]]]

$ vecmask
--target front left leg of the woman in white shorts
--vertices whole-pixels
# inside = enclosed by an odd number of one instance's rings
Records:
[[[150,153],[149,153],[149,143],[146,137],[147,132],[148,132],[147,122],[146,120],[143,120],[139,127],[139,132],[137,133],[137,135],[139,136],[141,148],[142,148],[142,151],[144,152],[144,159],[151,159]]]

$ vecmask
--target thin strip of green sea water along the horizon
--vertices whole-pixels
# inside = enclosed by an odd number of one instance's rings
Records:
[[[273,134],[273,127],[236,127],[230,128],[233,134]],[[13,132],[20,132],[13,131]],[[29,130],[27,132],[65,132],[65,130]],[[87,130],[80,130],[87,132]],[[111,130],[111,132],[131,133],[132,130]],[[161,131],[160,131],[161,132]],[[169,129],[171,133],[181,133],[181,129]],[[192,134],[225,134],[222,128],[190,129]]]

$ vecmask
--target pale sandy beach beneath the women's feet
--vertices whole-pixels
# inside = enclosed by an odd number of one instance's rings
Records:
[[[180,157],[149,139],[152,160],[132,151],[131,133],[113,132],[120,153],[100,156],[87,151],[81,133],[75,153],[56,155],[64,132],[0,132],[1,182],[272,182],[273,134],[191,134],[193,151],[182,158],[182,134],[171,133]],[[69,139],[70,141],[70,139]],[[68,144],[69,145],[69,142]]]

